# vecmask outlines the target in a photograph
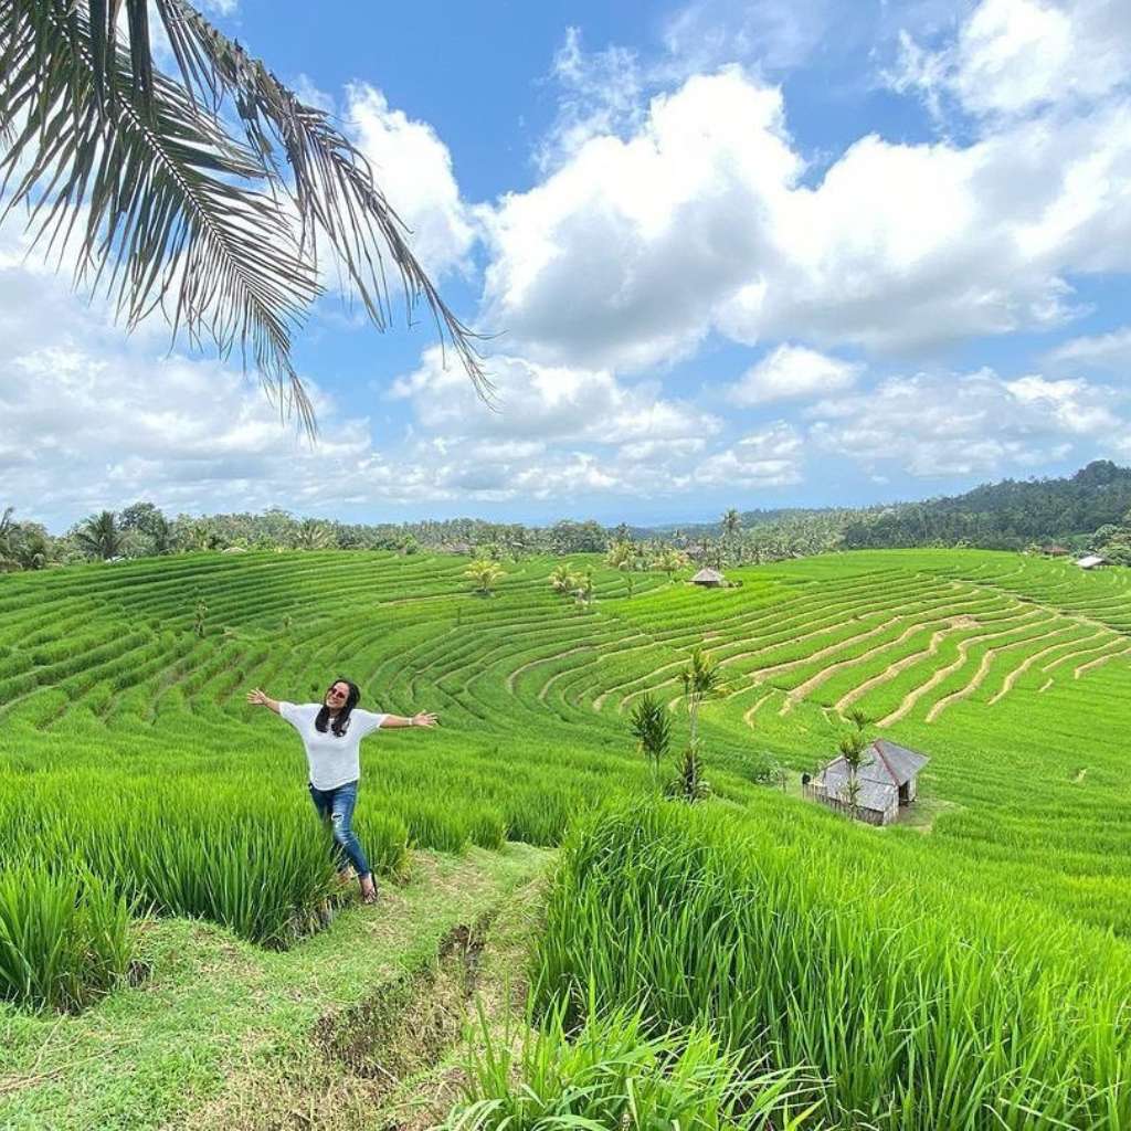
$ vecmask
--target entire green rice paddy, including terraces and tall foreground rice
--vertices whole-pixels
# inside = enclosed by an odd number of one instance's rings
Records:
[[[380,871],[564,840],[533,966],[547,1016],[599,1033],[637,1010],[649,1063],[688,1027],[727,1079],[814,1081],[777,1125],[1131,1126],[1131,571],[875,551],[723,590],[639,575],[629,598],[594,560],[586,607],[553,592],[554,560],[507,564],[491,597],[466,564],[0,577],[0,1010],[139,992],[139,916],[302,947],[342,897],[301,744],[244,692],[313,700],[345,676],[364,707],[441,717],[363,746]],[[642,804],[629,711],[646,692],[677,711],[696,647],[726,682],[701,722],[717,800]],[[853,709],[931,759],[896,827],[798,795]],[[784,791],[759,784],[771,767]]]

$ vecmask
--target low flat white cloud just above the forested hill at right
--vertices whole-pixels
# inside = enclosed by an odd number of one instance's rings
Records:
[[[892,378],[809,411],[820,451],[867,470],[895,464],[913,476],[1005,474],[1112,447],[1129,426],[1128,395],[1039,375],[1005,381],[991,370]]]

